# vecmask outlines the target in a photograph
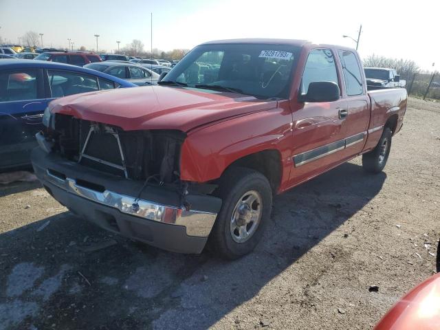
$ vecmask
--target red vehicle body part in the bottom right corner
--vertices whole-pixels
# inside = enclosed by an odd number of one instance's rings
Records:
[[[401,298],[375,327],[375,330],[415,329],[440,329],[440,273]]]

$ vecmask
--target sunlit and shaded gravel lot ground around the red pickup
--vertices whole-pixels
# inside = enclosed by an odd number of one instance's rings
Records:
[[[39,184],[1,186],[0,329],[371,329],[434,272],[439,155],[440,105],[410,100],[384,173],[358,158],[276,197],[234,262],[110,235]]]

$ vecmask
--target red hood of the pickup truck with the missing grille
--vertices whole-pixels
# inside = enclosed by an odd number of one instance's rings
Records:
[[[274,109],[277,101],[208,89],[151,86],[96,91],[59,98],[50,103],[52,113],[119,126],[124,131],[177,129],[234,116]]]

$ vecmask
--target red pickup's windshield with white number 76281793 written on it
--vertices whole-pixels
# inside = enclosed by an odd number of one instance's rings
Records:
[[[256,98],[288,98],[299,50],[292,45],[200,45],[186,54],[162,82],[201,89],[224,87]]]

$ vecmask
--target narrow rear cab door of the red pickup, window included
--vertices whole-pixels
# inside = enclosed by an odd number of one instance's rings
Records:
[[[339,50],[338,56],[344,76],[343,94],[348,109],[344,123],[347,130],[347,153],[355,155],[362,151],[366,140],[366,130],[370,122],[369,100],[358,56],[347,50]]]

